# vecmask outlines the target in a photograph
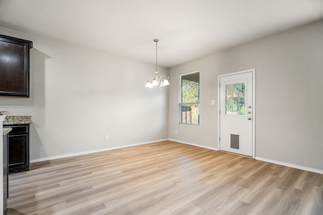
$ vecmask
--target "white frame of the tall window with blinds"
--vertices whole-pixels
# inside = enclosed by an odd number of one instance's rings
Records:
[[[190,74],[194,74],[194,73],[198,73],[198,77],[199,77],[199,85],[198,85],[198,102],[189,102],[189,103],[183,103],[182,102],[182,77],[186,76],[186,75],[190,75]],[[179,125],[189,125],[189,126],[199,126],[200,123],[200,70],[194,70],[194,71],[189,71],[188,73],[183,73],[183,74],[179,74],[178,76],[178,124]],[[194,105],[197,104],[198,105],[198,123],[185,123],[182,122],[182,105]]]

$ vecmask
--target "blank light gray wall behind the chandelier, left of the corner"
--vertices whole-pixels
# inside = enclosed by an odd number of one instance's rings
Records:
[[[168,88],[144,87],[154,64],[7,28],[0,34],[33,41],[31,97],[0,97],[0,110],[32,116],[31,159],[168,137]]]

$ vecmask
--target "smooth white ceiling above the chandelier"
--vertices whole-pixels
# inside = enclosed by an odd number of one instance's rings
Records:
[[[323,0],[0,0],[2,27],[148,63],[158,38],[165,67],[321,18]]]

